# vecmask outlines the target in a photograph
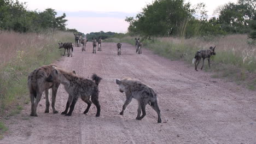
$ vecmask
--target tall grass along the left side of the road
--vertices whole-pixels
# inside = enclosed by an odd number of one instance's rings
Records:
[[[60,42],[74,42],[72,33],[16,33],[0,31],[0,121],[29,103],[28,74],[61,57]]]

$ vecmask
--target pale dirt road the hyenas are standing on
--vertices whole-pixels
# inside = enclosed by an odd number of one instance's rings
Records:
[[[78,47],[74,57],[62,57],[59,64],[78,75],[103,78],[99,85],[101,116],[95,117],[92,105],[87,115],[86,104],[79,99],[73,115],[44,113],[44,96],[38,117],[31,117],[30,104],[21,114],[8,120],[9,133],[0,143],[256,143],[256,92],[235,83],[212,79],[211,74],[183,62],[169,61],[135,46],[122,44],[121,56],[115,43],[103,43],[102,51],[92,54]],[[217,53],[218,55],[218,53]],[[120,116],[125,95],[115,79],[134,77],[152,86],[159,97],[162,123],[147,106],[147,116],[138,121],[137,101]],[[216,81],[216,82],[212,82]],[[61,86],[56,109],[65,110],[68,94]]]

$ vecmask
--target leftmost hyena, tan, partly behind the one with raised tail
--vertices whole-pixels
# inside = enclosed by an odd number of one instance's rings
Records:
[[[50,75],[51,71],[53,70],[53,66],[56,65],[44,65],[42,67],[37,68],[36,70],[32,71],[30,75],[28,75],[27,79],[27,86],[30,91],[30,100],[31,100],[31,116],[38,116],[37,115],[37,105],[42,97],[42,93],[45,93],[46,99],[46,108],[45,113],[49,113],[49,89],[51,88],[52,96],[51,96],[51,107],[53,107],[53,113],[59,113],[55,109],[55,100],[57,89],[60,86],[58,82],[47,82],[46,78]]]

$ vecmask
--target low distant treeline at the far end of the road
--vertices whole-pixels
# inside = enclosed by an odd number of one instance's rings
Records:
[[[124,33],[114,33],[114,32],[91,32],[86,34],[86,38],[91,41],[92,38],[96,38],[97,40],[99,38],[101,39],[107,39],[107,38],[111,38],[111,37],[124,37]]]

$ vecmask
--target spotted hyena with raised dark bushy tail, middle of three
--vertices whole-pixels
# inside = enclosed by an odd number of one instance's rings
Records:
[[[67,72],[65,70],[54,67],[54,70],[51,71],[47,81],[62,83],[65,87],[65,90],[69,94],[66,109],[61,114],[65,114],[65,116],[71,116],[75,103],[77,103],[77,100],[80,97],[86,104],[88,104],[84,114],[89,111],[91,103],[94,103],[94,105],[97,107],[96,117],[100,116],[101,106],[98,103],[98,84],[101,81],[101,77],[98,77],[96,74],[94,74],[91,78],[93,81],[79,77],[72,72]],[[90,101],[90,96],[92,102]],[[69,106],[70,109],[68,112]]]

